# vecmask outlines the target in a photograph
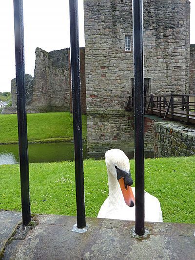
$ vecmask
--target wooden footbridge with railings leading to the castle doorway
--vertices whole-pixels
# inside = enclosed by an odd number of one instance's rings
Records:
[[[195,124],[195,94],[174,94],[156,96],[151,94],[147,104],[145,97],[145,114],[157,115],[163,120],[181,120],[187,124]],[[129,97],[125,108],[126,111],[133,110],[134,98]]]

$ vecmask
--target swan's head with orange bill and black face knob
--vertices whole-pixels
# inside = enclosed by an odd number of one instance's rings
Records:
[[[135,197],[131,189],[133,180],[130,173],[129,159],[120,149],[111,149],[105,153],[108,171],[118,180],[125,203],[129,207],[135,205]]]

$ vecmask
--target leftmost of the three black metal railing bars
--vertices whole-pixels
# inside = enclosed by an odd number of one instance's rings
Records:
[[[22,221],[24,225],[27,225],[31,221],[31,212],[30,212],[26,100],[25,100],[25,84],[24,84],[25,72],[24,72],[24,30],[23,30],[22,0],[14,0],[14,32],[15,32],[16,88],[17,88],[17,112],[18,112],[19,154],[20,154]]]

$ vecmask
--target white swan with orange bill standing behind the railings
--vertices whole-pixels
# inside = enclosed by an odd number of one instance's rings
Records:
[[[129,159],[120,149],[105,153],[109,196],[103,202],[98,218],[135,220],[135,188],[130,173]],[[145,221],[163,222],[159,200],[145,192]]]

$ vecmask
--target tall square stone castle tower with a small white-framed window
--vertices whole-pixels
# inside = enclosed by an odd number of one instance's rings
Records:
[[[123,142],[131,149],[133,117],[124,108],[134,78],[132,1],[84,0],[84,23],[88,151],[123,149]],[[188,0],[144,0],[147,95],[189,92],[189,28]]]

